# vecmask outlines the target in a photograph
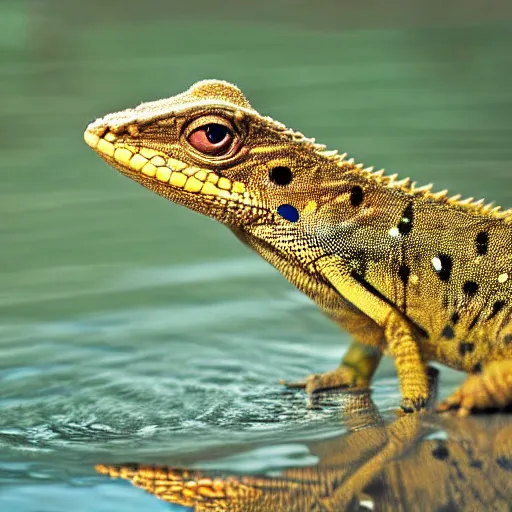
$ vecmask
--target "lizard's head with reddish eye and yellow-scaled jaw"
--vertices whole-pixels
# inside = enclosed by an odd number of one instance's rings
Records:
[[[122,174],[227,224],[248,243],[255,237],[275,245],[280,232],[290,236],[308,218],[318,227],[312,216],[332,197],[326,184],[336,182],[343,195],[340,162],[354,168],[261,116],[237,87],[218,80],[108,114],[84,138]]]

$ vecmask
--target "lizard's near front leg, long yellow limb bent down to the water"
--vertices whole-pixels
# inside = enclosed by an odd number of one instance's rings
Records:
[[[425,407],[428,399],[427,370],[409,322],[376,290],[357,279],[341,258],[325,256],[317,260],[315,269],[341,296],[382,327],[389,352],[395,359],[402,409],[412,412]]]

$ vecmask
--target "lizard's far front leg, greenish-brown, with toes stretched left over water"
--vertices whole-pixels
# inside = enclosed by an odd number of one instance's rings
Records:
[[[288,388],[304,388],[308,394],[326,389],[367,388],[381,357],[378,348],[354,340],[335,370],[313,374],[298,382],[282,381],[281,384]]]

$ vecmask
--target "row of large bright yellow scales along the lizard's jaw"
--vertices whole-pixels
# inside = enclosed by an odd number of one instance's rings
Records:
[[[210,169],[189,166],[154,149],[116,144],[116,139],[112,132],[98,135],[94,123],[84,133],[84,140],[92,149],[130,177],[138,175],[185,192],[252,206],[245,185],[239,181],[219,176]]]

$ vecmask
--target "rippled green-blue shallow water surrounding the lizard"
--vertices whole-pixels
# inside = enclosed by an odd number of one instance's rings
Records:
[[[342,397],[311,409],[277,381],[333,368],[347,336],[228,230],[110,170],[91,119],[222,78],[359,161],[512,206],[505,3],[172,5],[0,5],[2,510],[169,510],[94,465],[265,473],[345,432]],[[389,361],[373,400],[398,404]]]

